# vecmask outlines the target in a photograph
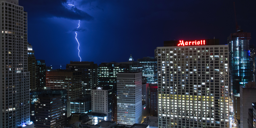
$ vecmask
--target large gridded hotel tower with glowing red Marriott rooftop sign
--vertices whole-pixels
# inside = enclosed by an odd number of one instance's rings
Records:
[[[229,127],[228,45],[164,41],[155,51],[158,127]]]

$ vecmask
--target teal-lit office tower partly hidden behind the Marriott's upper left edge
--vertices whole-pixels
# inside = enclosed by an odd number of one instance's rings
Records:
[[[143,57],[137,61],[142,67],[142,76],[147,77],[147,83],[157,83],[157,59]]]

